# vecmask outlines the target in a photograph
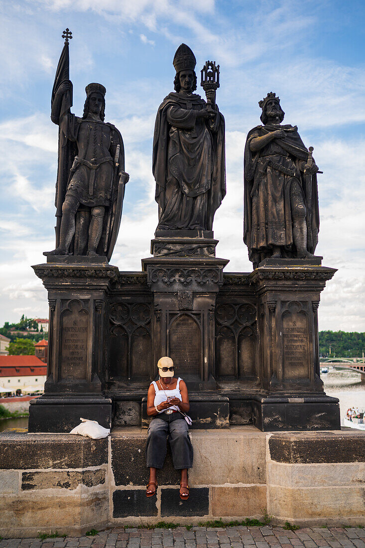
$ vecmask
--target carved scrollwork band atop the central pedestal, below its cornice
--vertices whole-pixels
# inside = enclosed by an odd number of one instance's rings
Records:
[[[221,284],[223,282],[222,271],[220,268],[168,268],[158,266],[156,268],[148,269],[148,282],[162,283],[164,286],[172,286],[174,283],[178,283],[183,287],[190,286],[193,283],[199,286],[206,286],[207,284]]]

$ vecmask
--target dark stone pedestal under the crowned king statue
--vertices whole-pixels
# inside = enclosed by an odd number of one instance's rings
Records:
[[[317,265],[284,261],[266,260],[250,276],[261,340],[254,424],[264,431],[338,429],[338,399],[324,394],[320,378],[317,321],[320,293],[335,269],[320,266],[321,258],[311,260]]]

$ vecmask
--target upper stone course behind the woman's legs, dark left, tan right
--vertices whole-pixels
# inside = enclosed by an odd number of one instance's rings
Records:
[[[190,436],[195,452],[194,466],[189,471],[192,487],[266,482],[265,433],[250,426],[236,426],[228,430],[194,430]],[[116,486],[139,486],[147,482],[146,438],[146,430],[133,427],[112,433],[112,471]],[[159,485],[180,482],[169,446],[165,464],[157,477]]]

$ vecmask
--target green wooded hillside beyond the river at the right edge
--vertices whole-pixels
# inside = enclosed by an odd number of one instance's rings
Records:
[[[320,355],[337,358],[360,358],[365,352],[365,333],[345,331],[320,331]]]

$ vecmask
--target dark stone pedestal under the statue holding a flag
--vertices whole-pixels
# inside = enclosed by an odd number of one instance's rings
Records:
[[[118,269],[105,258],[78,257],[52,257],[33,269],[48,290],[49,339],[44,395],[31,401],[29,431],[67,432],[81,416],[110,427],[105,315]]]

